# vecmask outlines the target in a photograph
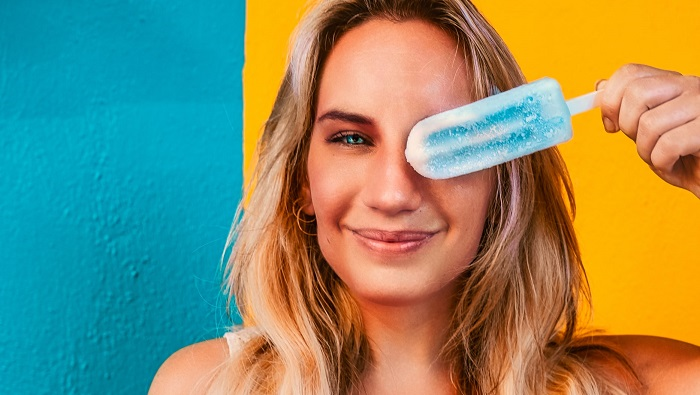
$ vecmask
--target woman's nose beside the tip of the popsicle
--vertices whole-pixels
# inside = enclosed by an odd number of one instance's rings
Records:
[[[404,149],[380,150],[372,167],[363,190],[366,206],[386,215],[412,212],[420,207],[423,198],[420,184],[424,178],[406,161]]]

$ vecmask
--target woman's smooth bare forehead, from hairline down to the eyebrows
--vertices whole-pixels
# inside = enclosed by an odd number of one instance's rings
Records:
[[[428,112],[436,113],[471,101],[467,75],[463,51],[440,28],[421,20],[374,19],[345,33],[331,50],[318,104],[363,99],[371,107],[378,104],[371,98],[423,98],[432,101]]]

